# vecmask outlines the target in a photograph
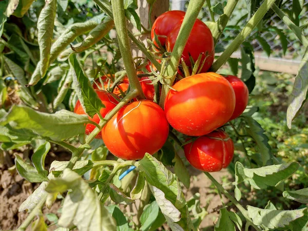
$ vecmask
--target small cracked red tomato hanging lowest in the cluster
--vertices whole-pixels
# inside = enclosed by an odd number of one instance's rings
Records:
[[[220,171],[232,161],[234,145],[224,131],[217,130],[184,145],[184,152],[188,162],[195,168]]]

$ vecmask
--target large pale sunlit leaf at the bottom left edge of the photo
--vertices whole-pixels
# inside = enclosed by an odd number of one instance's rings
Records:
[[[114,219],[100,203],[97,194],[74,171],[64,169],[62,177],[50,180],[46,187],[48,192],[62,192],[67,189],[72,191],[64,199],[62,215],[58,222],[60,226],[76,225],[81,231],[117,230]]]

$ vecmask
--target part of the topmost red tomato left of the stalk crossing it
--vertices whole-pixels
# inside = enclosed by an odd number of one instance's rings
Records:
[[[184,11],[171,10],[161,14],[156,18],[151,29],[152,41],[155,41],[154,31],[157,35],[167,36],[170,31],[181,21],[185,16]],[[164,47],[166,43],[165,37],[158,37],[159,42]],[[155,43],[156,44],[156,43]],[[157,45],[157,44],[156,44]]]

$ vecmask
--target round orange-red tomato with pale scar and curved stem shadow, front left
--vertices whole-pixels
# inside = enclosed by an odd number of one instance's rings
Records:
[[[153,155],[166,142],[169,125],[156,103],[144,100],[122,107],[103,127],[106,147],[124,160],[139,160],[145,152]]]

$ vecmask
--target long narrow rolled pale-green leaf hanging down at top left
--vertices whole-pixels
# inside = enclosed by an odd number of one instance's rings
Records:
[[[49,67],[55,12],[56,0],[47,0],[37,20],[37,40],[38,45],[40,45],[42,78]]]

